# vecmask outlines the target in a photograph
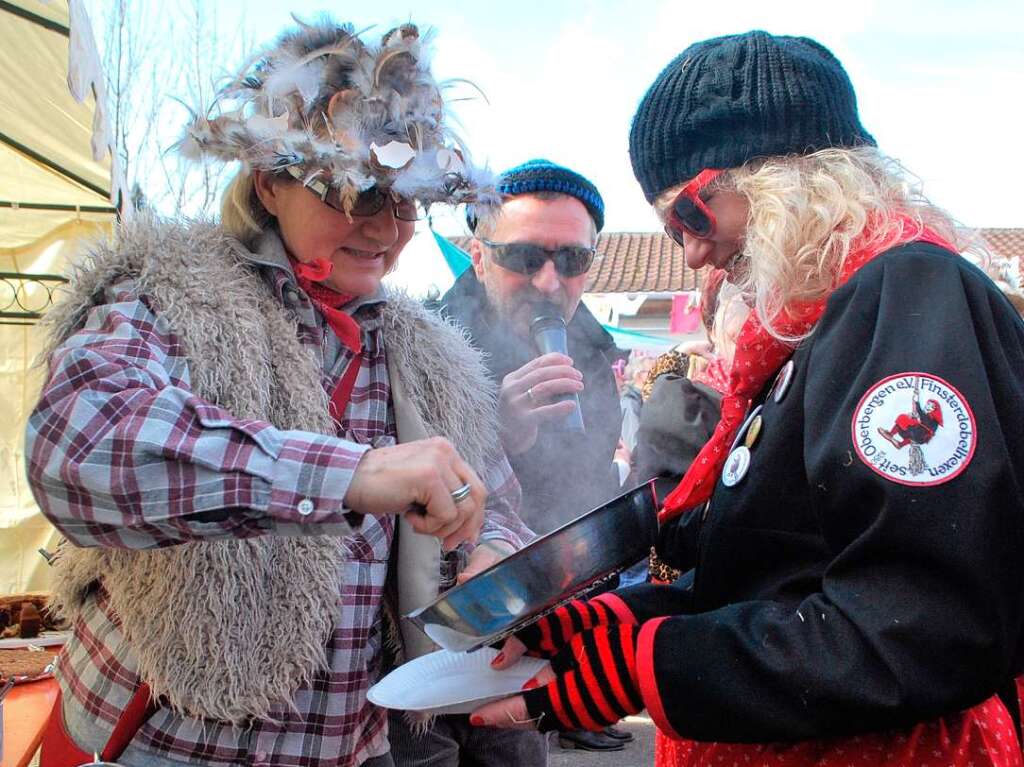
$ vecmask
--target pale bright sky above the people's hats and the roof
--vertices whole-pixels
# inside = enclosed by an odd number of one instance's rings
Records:
[[[256,45],[330,9],[367,39],[413,20],[436,31],[434,73],[486,95],[453,109],[477,162],[546,157],[591,178],[606,230],[653,230],[633,177],[629,126],[646,89],[688,44],[764,29],[807,35],[843,61],[861,122],[925,194],[971,226],[1024,226],[1024,2],[683,0],[220,0],[217,23]],[[226,67],[240,61],[227,60]],[[454,93],[472,96],[468,86]],[[445,233],[460,233],[455,217]]]

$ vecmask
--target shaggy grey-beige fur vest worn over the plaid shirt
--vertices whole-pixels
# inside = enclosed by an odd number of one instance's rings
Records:
[[[70,296],[49,313],[48,351],[82,327],[106,287],[130,278],[183,344],[197,395],[281,429],[335,434],[321,364],[247,255],[212,224],[124,226],[116,244],[92,248]],[[399,441],[444,436],[482,474],[499,441],[479,355],[407,296],[388,296],[384,321]],[[326,667],[344,541],[303,532],[145,551],[66,545],[53,568],[54,604],[74,621],[102,583],[135,655],[121,661],[137,664],[154,695],[185,716],[260,718]],[[396,551],[403,613],[436,596],[440,549],[399,520]],[[410,654],[430,649],[403,634]]]

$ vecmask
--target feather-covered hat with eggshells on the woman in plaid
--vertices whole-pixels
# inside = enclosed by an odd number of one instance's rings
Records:
[[[298,24],[193,116],[185,157],[285,171],[322,198],[333,187],[346,212],[374,185],[422,203],[499,202],[445,124],[429,34],[408,24],[372,46],[351,25]]]

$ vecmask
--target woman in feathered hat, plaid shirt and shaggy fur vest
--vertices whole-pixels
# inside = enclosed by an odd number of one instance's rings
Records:
[[[286,33],[182,138],[240,162],[221,220],[122,226],[51,313],[48,763],[390,765],[367,690],[432,648],[396,616],[531,538],[478,355],[381,285],[426,206],[493,200],[427,42]]]

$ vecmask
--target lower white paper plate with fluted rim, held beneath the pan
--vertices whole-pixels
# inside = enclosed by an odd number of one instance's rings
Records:
[[[468,714],[488,700],[514,695],[548,665],[522,657],[502,671],[490,668],[498,650],[438,650],[399,666],[370,688],[370,702],[384,709],[429,714]]]

